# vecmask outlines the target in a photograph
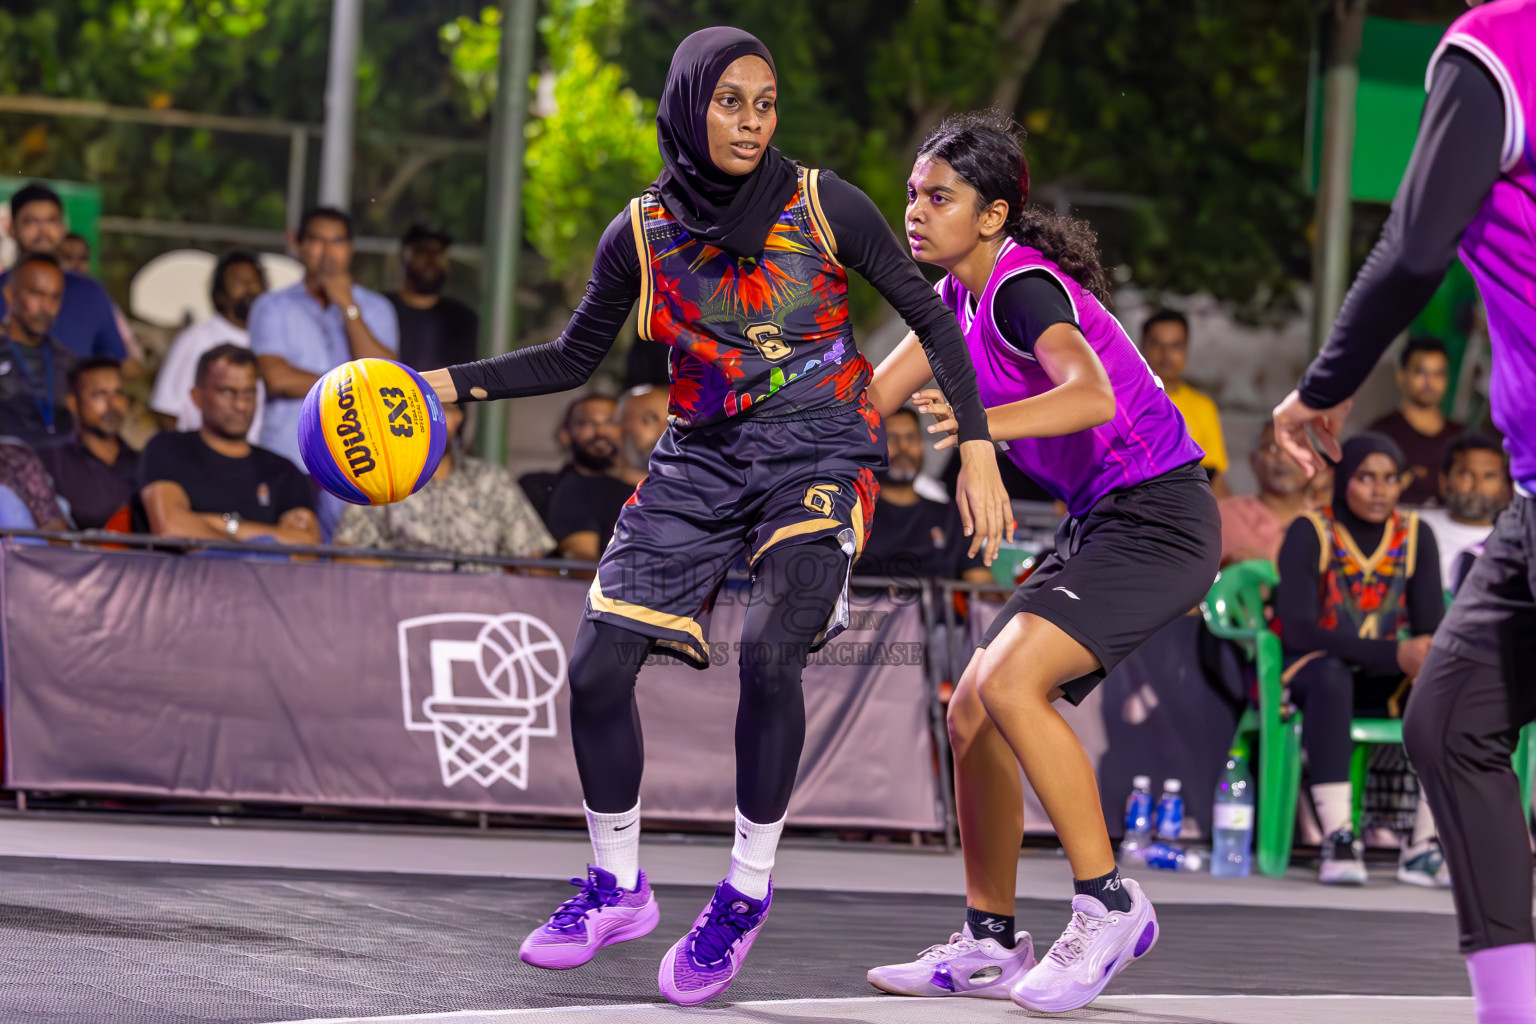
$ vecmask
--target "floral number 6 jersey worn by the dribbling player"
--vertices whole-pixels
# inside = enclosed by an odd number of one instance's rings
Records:
[[[641,336],[673,347],[673,424],[851,402],[874,416],[863,398],[871,367],[854,345],[848,275],[822,215],[816,170],[800,167],[799,187],[756,259],[694,241],[650,192],[630,204],[630,220]]]

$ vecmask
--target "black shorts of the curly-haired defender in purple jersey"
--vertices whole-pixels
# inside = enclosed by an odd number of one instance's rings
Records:
[[[1111,491],[1057,527],[1048,554],[982,636],[997,639],[1021,611],[1049,620],[1098,659],[1063,686],[1074,705],[1154,633],[1195,608],[1221,565],[1221,517],[1200,464]]]

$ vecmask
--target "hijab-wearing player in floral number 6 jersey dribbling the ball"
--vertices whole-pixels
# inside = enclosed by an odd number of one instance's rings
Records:
[[[957,408],[957,500],[971,554],[985,545],[991,562],[1011,519],[954,315],[868,197],[770,146],[777,80],[768,49],[731,28],[690,35],[673,55],[656,124],[665,169],[608,226],[561,338],[427,379],[445,402],[578,387],[636,299],[641,336],[673,347],[671,425],[619,516],[571,651],[571,738],[596,864],[521,955],[539,967],[576,967],[656,926],[637,866],[644,755],[634,680],[653,648],[708,665],[699,617],[746,554],[731,872],[657,979],[662,995],[691,1006],[730,986],[766,920],[805,740],[800,672],[846,625],[849,563],[871,527],[874,474],[885,468],[846,270],[919,333]]]

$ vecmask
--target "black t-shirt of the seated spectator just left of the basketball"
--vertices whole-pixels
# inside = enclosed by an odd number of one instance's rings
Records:
[[[290,508],[315,507],[309,479],[276,451],[252,445],[244,459],[230,459],[209,448],[195,430],[151,438],[138,481],[140,487],[180,484],[195,513],[235,513],[269,527]]]

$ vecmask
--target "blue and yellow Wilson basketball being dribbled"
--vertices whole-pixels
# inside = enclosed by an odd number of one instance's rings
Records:
[[[415,494],[449,442],[442,402],[421,375],[389,359],[353,359],[315,381],[298,418],[304,465],[353,505]]]

